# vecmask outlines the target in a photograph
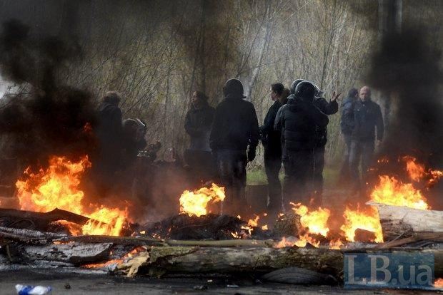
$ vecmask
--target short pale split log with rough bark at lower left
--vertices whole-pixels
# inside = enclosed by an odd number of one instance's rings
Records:
[[[54,261],[71,264],[86,264],[109,259],[112,244],[49,244],[44,246],[26,246],[22,255],[29,261]]]

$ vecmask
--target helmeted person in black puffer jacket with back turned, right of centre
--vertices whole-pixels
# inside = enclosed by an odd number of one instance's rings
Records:
[[[317,126],[329,123],[314,105],[315,86],[302,81],[289,95],[288,103],[280,108],[274,128],[282,130],[284,184],[284,205],[289,202],[309,204],[307,182],[314,175],[314,149],[317,145]]]

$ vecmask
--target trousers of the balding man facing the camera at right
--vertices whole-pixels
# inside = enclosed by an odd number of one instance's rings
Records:
[[[374,140],[359,141],[351,140],[351,148],[349,151],[349,171],[354,189],[361,190],[362,183],[366,182],[367,170],[374,156]],[[359,165],[361,162],[362,177],[359,175]]]

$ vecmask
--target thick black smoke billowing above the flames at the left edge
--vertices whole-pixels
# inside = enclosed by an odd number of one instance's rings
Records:
[[[96,122],[90,93],[61,83],[67,63],[79,61],[73,41],[39,36],[20,21],[3,24],[0,69],[3,78],[24,91],[2,98],[2,151],[25,165],[46,162],[49,155],[86,155],[94,148],[88,132]],[[86,128],[85,128],[86,127]]]

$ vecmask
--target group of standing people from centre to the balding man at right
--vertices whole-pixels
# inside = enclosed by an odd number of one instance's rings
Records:
[[[185,160],[194,171],[192,175],[206,175],[206,179],[217,175],[227,195],[224,212],[242,212],[247,207],[247,162],[254,160],[261,140],[268,180],[268,212],[282,212],[289,202],[309,204],[314,200],[319,205],[328,115],[338,112],[337,98],[341,93],[334,92],[328,101],[310,81],[297,79],[289,90],[282,83],[274,83],[270,87],[274,103],[264,124],[259,126],[254,105],[244,100],[242,82],[229,79],[223,90],[224,100],[215,109],[207,103],[204,93],[196,91],[192,95],[185,122],[191,137]],[[384,130],[380,107],[371,100],[369,87],[349,90],[342,104],[341,127],[347,145],[342,172],[354,180],[354,188],[359,190],[360,159],[364,176],[374,153],[375,130],[379,141]],[[279,180],[282,163],[283,187]]]

